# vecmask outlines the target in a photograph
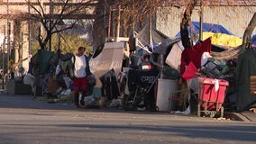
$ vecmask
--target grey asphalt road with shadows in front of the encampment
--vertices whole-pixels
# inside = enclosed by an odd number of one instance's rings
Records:
[[[77,109],[0,94],[0,144],[255,143],[256,123],[167,112]]]

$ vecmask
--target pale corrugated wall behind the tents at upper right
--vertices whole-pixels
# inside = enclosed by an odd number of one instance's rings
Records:
[[[156,18],[156,28],[169,37],[174,37],[178,31],[186,7],[160,7]],[[195,7],[192,21],[199,22],[199,7]],[[256,6],[206,6],[204,7],[204,23],[221,24],[234,35],[242,37],[247,25],[250,23]],[[165,20],[167,22],[165,22]],[[256,30],[252,32],[256,34]]]

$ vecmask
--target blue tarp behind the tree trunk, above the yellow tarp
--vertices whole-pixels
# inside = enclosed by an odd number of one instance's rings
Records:
[[[193,28],[193,34],[196,35],[200,31],[200,23],[198,22],[192,22]],[[187,27],[188,35],[190,35],[190,28]],[[226,30],[222,25],[215,24],[215,23],[203,23],[203,30],[202,31],[208,31],[208,32],[214,32],[214,33],[225,33],[229,35],[234,35],[231,31]],[[180,32],[176,35],[176,37],[180,37]]]

